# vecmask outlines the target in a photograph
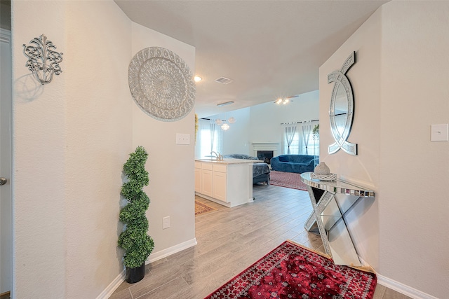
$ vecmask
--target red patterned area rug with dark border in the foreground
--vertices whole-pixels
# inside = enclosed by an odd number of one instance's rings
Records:
[[[330,258],[286,241],[209,298],[371,299],[376,275],[335,265]]]

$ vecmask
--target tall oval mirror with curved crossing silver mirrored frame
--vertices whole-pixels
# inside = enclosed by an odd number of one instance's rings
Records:
[[[356,63],[355,52],[349,55],[340,71],[328,74],[328,83],[335,82],[329,112],[330,132],[332,132],[335,143],[328,148],[330,154],[337,153],[341,148],[349,155],[357,155],[357,144],[347,141],[354,119],[354,95],[351,83],[345,74],[354,63]]]

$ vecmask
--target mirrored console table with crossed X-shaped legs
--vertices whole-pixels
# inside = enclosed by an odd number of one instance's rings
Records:
[[[311,179],[311,172],[301,174],[301,181],[307,185],[311,205],[304,228],[311,231],[318,226],[323,246],[336,265],[361,266],[351,235],[344,219],[351,207],[364,197],[375,197],[373,190],[336,179],[322,181]]]

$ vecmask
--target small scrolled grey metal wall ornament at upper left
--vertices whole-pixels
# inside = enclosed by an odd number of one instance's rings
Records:
[[[28,67],[34,78],[42,85],[48,84],[53,80],[53,75],[62,73],[60,62],[62,62],[62,53],[55,51],[56,46],[48,41],[45,34],[29,41],[31,45],[23,45],[23,53],[28,57],[25,67]]]

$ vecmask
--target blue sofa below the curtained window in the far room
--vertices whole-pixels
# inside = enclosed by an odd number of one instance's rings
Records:
[[[272,170],[276,172],[313,172],[319,164],[318,155],[278,155],[272,158]]]

